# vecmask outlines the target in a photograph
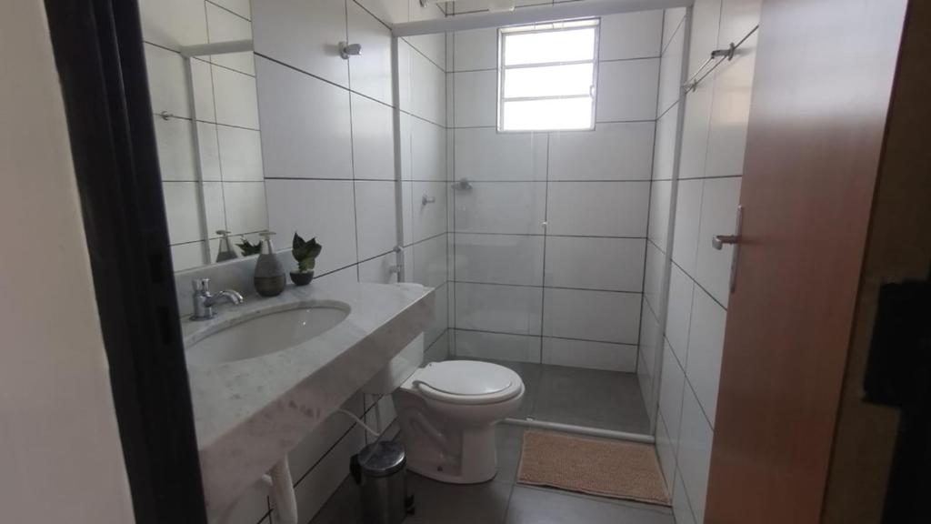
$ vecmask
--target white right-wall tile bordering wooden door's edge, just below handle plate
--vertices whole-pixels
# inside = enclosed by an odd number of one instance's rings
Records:
[[[726,318],[726,310],[701,288],[695,289],[686,374],[695,389],[698,403],[708,415],[708,421],[712,426],[718,407],[718,382],[721,378]]]

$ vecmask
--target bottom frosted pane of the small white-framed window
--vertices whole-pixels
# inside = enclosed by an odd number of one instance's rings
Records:
[[[506,102],[502,126],[506,131],[587,130],[591,107],[589,97]]]

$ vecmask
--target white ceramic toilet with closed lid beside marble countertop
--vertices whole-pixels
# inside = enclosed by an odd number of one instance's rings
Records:
[[[495,425],[517,410],[524,385],[510,369],[447,361],[418,367],[423,335],[363,388],[392,393],[408,469],[440,482],[471,484],[497,471]]]

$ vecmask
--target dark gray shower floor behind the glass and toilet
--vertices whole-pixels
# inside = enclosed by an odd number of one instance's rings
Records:
[[[487,361],[523,379],[526,393],[515,419],[560,422],[629,433],[650,433],[636,373],[561,365]]]

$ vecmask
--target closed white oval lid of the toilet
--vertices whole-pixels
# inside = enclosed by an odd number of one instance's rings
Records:
[[[487,362],[438,362],[426,365],[412,379],[425,396],[450,404],[492,404],[523,391],[517,373]]]

